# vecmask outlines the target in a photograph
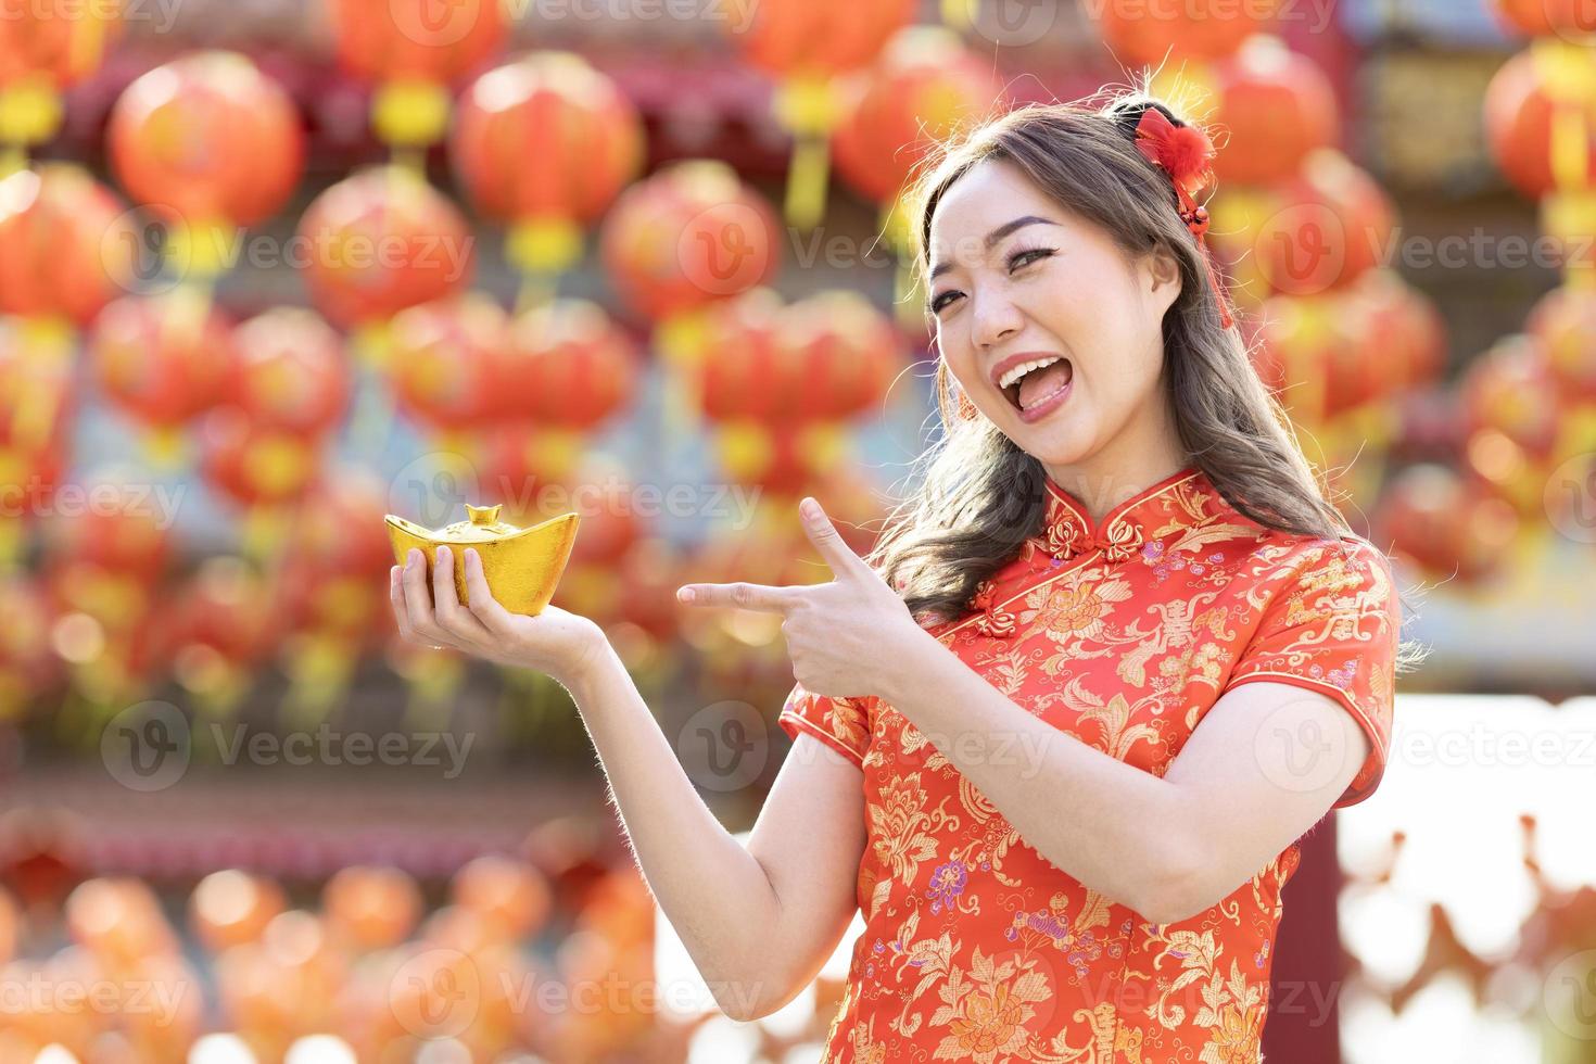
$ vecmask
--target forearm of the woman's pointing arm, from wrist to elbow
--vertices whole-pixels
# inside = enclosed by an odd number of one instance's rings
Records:
[[[930,635],[900,672],[886,700],[1044,858],[1149,919],[1181,892],[1195,831],[1179,788],[1015,705]]]

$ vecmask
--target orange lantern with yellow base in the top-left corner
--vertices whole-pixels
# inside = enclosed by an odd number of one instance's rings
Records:
[[[0,177],[27,164],[27,148],[56,136],[61,89],[93,73],[121,30],[121,0],[0,0]]]

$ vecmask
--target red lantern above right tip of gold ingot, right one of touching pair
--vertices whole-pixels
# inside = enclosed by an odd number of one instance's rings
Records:
[[[637,394],[642,359],[597,303],[555,300],[517,314],[498,359],[495,392],[506,418],[589,431]]]

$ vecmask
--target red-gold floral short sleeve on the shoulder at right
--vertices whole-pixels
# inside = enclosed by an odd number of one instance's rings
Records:
[[[1254,680],[1328,694],[1369,739],[1336,809],[1374,793],[1390,750],[1401,605],[1390,560],[1358,538],[1315,542],[1258,589],[1262,617],[1226,691]]]

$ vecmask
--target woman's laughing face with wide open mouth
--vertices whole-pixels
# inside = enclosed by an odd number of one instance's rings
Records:
[[[1178,461],[1162,383],[1162,321],[1179,295],[1173,255],[1127,262],[1104,230],[988,160],[937,204],[930,266],[948,370],[1057,480]],[[1013,380],[1037,362],[1047,365]]]

